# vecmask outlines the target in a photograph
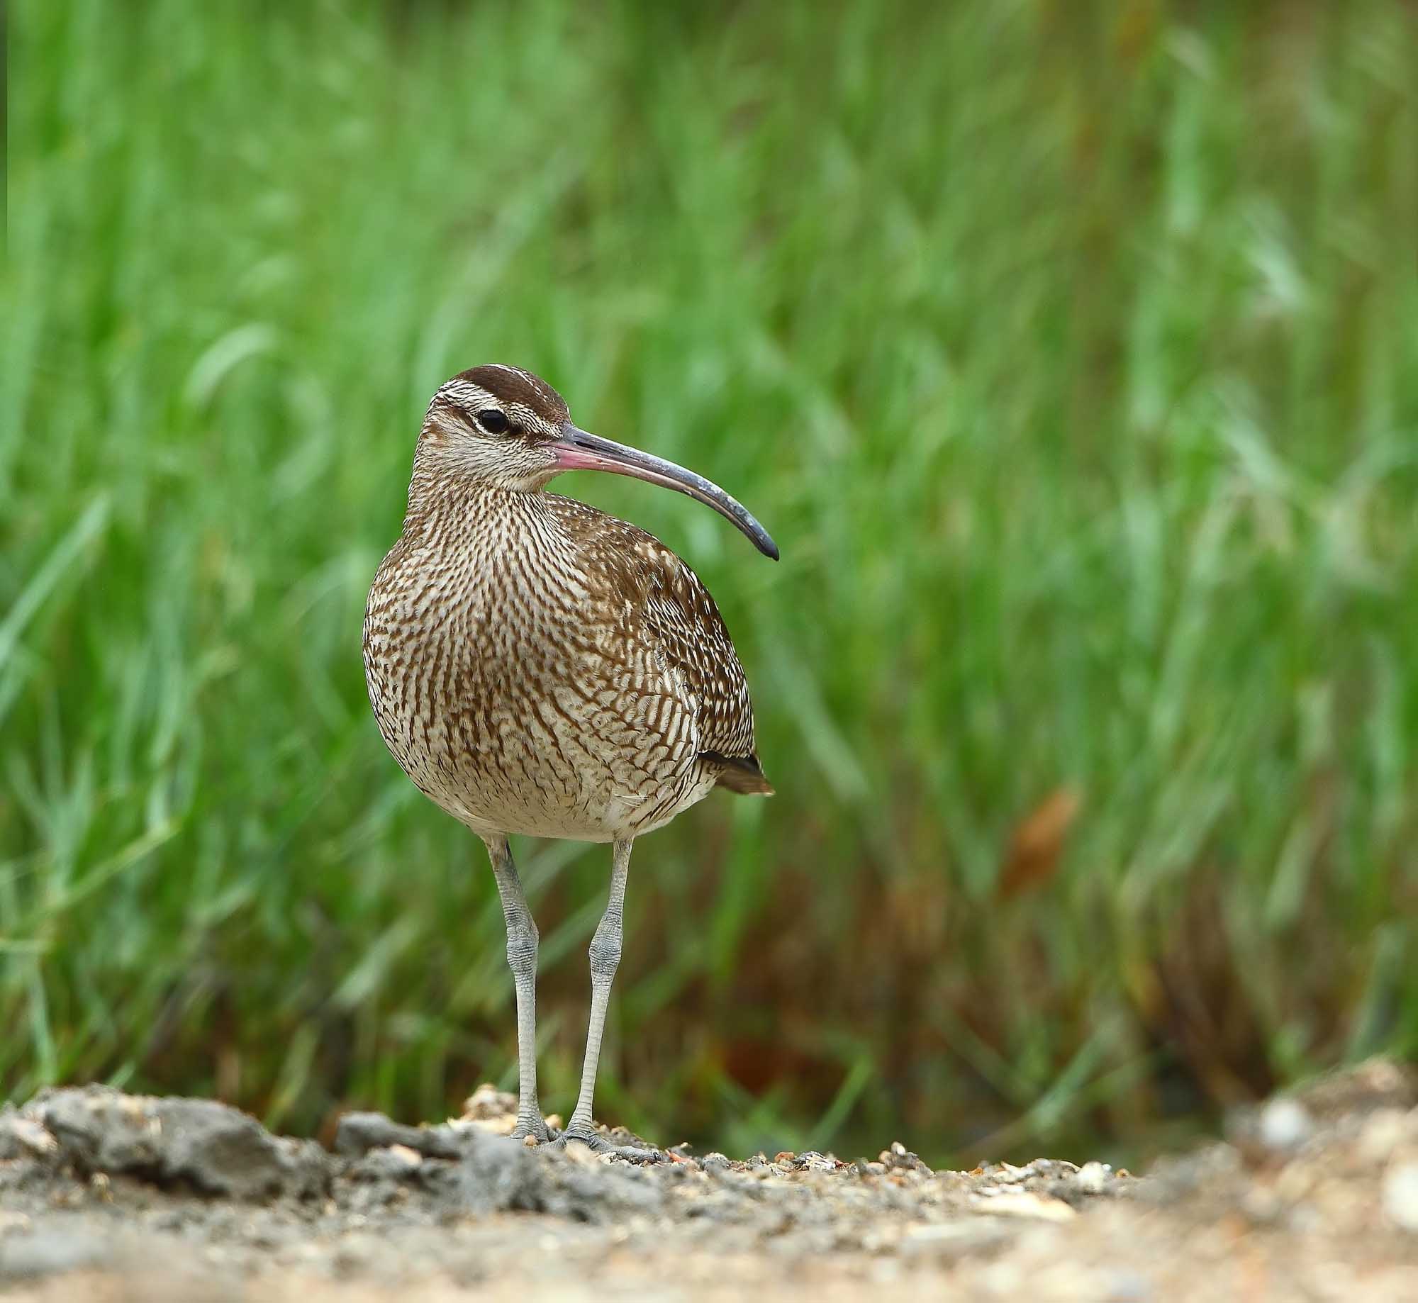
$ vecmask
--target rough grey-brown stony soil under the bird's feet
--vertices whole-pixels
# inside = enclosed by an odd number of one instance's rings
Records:
[[[632,1165],[506,1139],[512,1105],[347,1114],[330,1153],[206,1100],[43,1092],[0,1112],[0,1297],[1418,1299],[1418,1073],[1391,1063],[1140,1177],[900,1144]]]

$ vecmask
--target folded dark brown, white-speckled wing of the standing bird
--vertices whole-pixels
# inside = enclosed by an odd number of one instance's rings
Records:
[[[593,552],[587,573],[604,574],[625,615],[654,644],[665,669],[681,685],[692,712],[699,754],[723,768],[719,784],[747,794],[769,794],[753,743],[749,681],[709,590],[693,570],[654,535],[607,516],[574,498],[547,495],[563,523]],[[624,607],[623,607],[624,610]]]

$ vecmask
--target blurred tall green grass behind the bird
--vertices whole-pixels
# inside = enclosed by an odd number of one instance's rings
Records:
[[[1378,0],[20,0],[0,1089],[515,1080],[482,849],[359,656],[489,360],[784,553],[559,483],[705,577],[778,788],[637,846],[601,1117],[1126,1158],[1412,1056],[1415,50]],[[564,1113],[607,852],[516,849]]]

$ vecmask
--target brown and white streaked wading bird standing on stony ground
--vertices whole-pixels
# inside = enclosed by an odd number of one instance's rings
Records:
[[[404,773],[488,846],[516,987],[516,1137],[550,1134],[536,1092],[537,929],[508,835],[611,842],[581,1089],[557,1140],[605,1151],[614,1147],[596,1131],[591,1095],[631,844],[715,787],[773,788],[753,746],[743,666],[709,591],[652,535],[545,492],[563,471],[688,493],[777,560],[763,526],[718,485],[579,430],[562,396],[529,371],[474,367],[424,415],[404,529],[369,594],[364,672]]]

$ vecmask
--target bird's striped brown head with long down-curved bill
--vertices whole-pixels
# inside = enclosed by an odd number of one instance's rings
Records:
[[[778,559],[767,530],[702,475],[588,434],[566,400],[530,371],[476,366],[438,387],[418,434],[415,466],[440,478],[535,493],[563,471],[608,471],[686,493],[737,526],[764,556]]]

